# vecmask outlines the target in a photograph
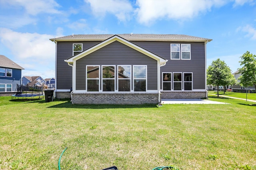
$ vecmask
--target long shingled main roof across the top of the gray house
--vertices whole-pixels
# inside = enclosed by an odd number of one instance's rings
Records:
[[[116,34],[128,41],[197,41],[210,42],[212,39],[179,34]],[[114,34],[79,34],[50,39],[51,41],[104,41]]]

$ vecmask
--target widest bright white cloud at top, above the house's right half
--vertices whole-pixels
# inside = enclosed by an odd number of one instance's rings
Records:
[[[188,19],[204,13],[212,6],[223,6],[224,0],[137,0],[138,21],[150,24],[155,20]]]

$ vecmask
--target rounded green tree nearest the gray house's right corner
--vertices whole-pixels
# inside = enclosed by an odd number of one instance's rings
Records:
[[[217,59],[207,69],[207,84],[217,86],[217,94],[219,97],[219,86],[230,85],[233,81],[231,70],[224,61]]]

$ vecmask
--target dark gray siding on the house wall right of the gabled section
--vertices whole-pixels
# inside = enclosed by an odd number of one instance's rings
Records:
[[[205,89],[205,49],[204,42],[171,42],[171,41],[133,41],[136,45],[167,59],[160,69],[162,72],[193,72],[193,89]],[[170,44],[191,44],[191,60],[171,60]],[[162,88],[162,83],[160,83]]]

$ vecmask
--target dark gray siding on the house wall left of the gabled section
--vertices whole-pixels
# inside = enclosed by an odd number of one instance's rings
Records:
[[[64,60],[69,59],[73,55],[73,43],[82,43],[82,51],[98,44],[100,41],[72,41],[57,43],[57,59],[56,59],[56,81],[58,89],[70,89],[72,87],[72,67]]]

